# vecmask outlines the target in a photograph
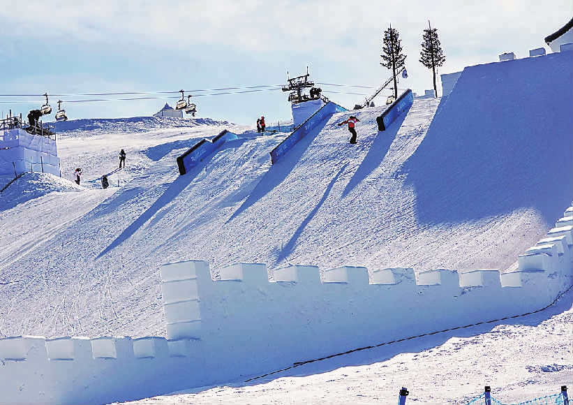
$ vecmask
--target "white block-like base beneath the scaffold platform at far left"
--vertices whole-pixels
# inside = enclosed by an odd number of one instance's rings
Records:
[[[0,131],[0,175],[43,172],[60,175],[56,140],[20,128]]]

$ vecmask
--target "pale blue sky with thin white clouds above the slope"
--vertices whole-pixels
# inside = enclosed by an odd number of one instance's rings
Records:
[[[431,71],[418,61],[428,20],[438,28],[446,57],[438,73],[452,73],[497,61],[503,52],[526,57],[573,15],[570,0],[459,3],[21,1],[0,7],[0,94],[70,94],[50,98],[53,108],[64,100],[70,119],[132,117],[152,115],[166,101],[173,105],[178,94],[165,100],[66,101],[88,98],[74,94],[283,84],[287,71],[301,75],[309,66],[315,82],[373,87],[320,86],[332,101],[352,108],[389,78],[380,66],[389,24],[398,29],[407,55],[409,78],[400,87],[423,93],[432,87]],[[280,90],[199,96],[218,92],[191,93],[198,96],[199,117],[240,124],[260,115],[290,119],[287,94]],[[0,96],[0,110],[27,115],[43,101]]]

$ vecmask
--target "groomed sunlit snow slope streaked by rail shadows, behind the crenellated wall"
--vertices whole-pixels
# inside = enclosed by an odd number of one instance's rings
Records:
[[[269,152],[286,134],[230,127],[239,139],[185,176],[175,158],[223,127],[64,133],[58,144],[64,177],[81,167],[85,189],[3,213],[0,241],[10,242],[0,281],[23,281],[0,289],[10,302],[0,307],[0,336],[165,334],[158,267],[186,259],[208,260],[215,277],[236,262],[267,263],[271,272],[289,263],[321,271],[339,265],[505,270],[549,228],[532,210],[462,223],[417,221],[416,193],[402,168],[437,107],[437,100],[417,100],[380,133],[375,117],[384,108],[360,110],[358,145],[348,144],[348,130],[336,125],[348,113],[338,113],[276,165]],[[103,191],[101,175],[117,167],[121,147],[126,168]],[[17,226],[29,212],[42,224],[40,237]],[[21,235],[12,240],[15,229]],[[38,268],[41,279],[34,278]],[[50,297],[50,305],[37,302],[38,294]]]

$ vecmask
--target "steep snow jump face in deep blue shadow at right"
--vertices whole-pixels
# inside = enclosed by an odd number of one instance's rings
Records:
[[[421,223],[533,207],[546,223],[573,196],[573,52],[470,66],[404,165]]]

